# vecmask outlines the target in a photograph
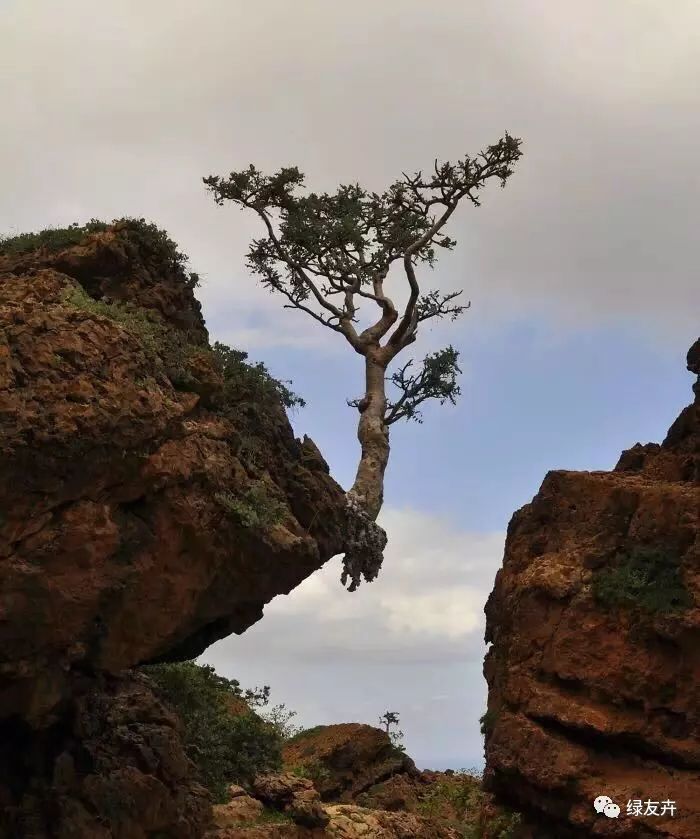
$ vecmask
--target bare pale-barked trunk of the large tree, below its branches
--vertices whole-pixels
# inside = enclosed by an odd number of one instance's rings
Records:
[[[370,350],[365,357],[365,396],[360,403],[357,427],[362,454],[355,482],[348,492],[373,521],[382,508],[384,471],[389,460],[389,427],[384,422],[387,365],[377,355],[376,351]]]

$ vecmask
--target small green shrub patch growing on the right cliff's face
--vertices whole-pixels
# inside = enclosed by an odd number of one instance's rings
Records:
[[[639,547],[618,555],[615,563],[593,576],[593,596],[602,606],[668,613],[692,605],[679,556],[660,548]]]

